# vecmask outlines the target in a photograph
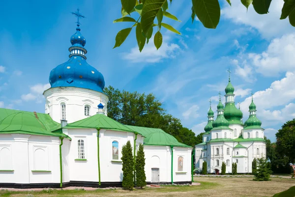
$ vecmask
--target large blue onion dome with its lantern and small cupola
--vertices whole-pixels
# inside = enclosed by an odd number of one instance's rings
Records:
[[[80,87],[103,92],[104,77],[87,63],[86,39],[80,32],[79,24],[77,26],[76,33],[71,36],[70,59],[50,72],[49,83],[51,87]]]

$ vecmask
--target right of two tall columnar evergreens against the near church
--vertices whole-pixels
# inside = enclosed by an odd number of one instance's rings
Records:
[[[137,187],[142,188],[147,185],[145,165],[146,165],[146,159],[145,159],[144,145],[139,144],[139,148],[138,148],[137,156],[136,156],[136,162],[135,162],[136,186]]]

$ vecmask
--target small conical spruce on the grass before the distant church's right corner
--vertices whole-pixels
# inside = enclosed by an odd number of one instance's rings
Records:
[[[258,159],[258,169],[254,174],[254,181],[269,181],[271,170],[265,158]]]

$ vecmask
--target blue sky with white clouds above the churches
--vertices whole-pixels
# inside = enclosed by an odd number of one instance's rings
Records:
[[[279,20],[283,2],[272,1],[269,13],[259,15],[252,5],[247,11],[239,1],[229,6],[220,0],[219,25],[207,29],[198,19],[192,24],[191,1],[174,0],[169,12],[181,22],[165,17],[163,22],[181,35],[162,28],[161,48],[156,50],[151,39],[140,53],[135,29],[113,49],[117,32],[132,26],[113,23],[121,17],[119,0],[3,1],[0,108],[45,113],[42,93],[50,87],[50,71],[68,60],[76,31],[70,12],[80,8],[86,16],[80,22],[87,61],[103,74],[106,86],[155,94],[167,113],[197,135],[207,124],[209,99],[216,118],[218,92],[225,94],[230,69],[243,121],[253,92],[265,135],[275,141],[277,130],[295,118],[295,33],[288,19]]]

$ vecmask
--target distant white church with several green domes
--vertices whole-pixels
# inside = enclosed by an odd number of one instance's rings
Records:
[[[203,142],[195,146],[195,167],[202,169],[207,162],[207,172],[221,172],[222,162],[226,164],[226,173],[232,172],[232,164],[237,164],[237,173],[252,172],[253,159],[266,158],[266,141],[262,122],[256,116],[256,105],[249,106],[249,118],[243,123],[243,113],[235,105],[235,88],[229,78],[225,88],[225,106],[217,105],[217,117],[208,112]]]

